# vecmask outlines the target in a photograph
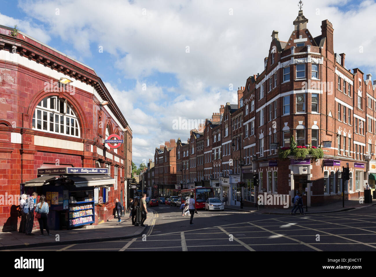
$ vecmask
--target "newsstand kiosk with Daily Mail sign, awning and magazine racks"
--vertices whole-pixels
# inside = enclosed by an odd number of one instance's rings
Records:
[[[38,175],[25,183],[23,193],[45,195],[51,229],[71,229],[105,220],[107,213],[101,207],[109,202],[108,193],[115,184],[108,168],[44,168],[38,169]]]

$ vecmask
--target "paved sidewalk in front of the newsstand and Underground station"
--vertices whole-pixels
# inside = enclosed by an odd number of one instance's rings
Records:
[[[148,225],[152,219],[153,213],[148,213],[144,224]],[[34,236],[26,236],[26,234],[18,231],[0,233],[0,251],[27,246],[37,247],[129,239],[141,236],[145,230],[146,227],[133,226],[129,214],[125,214],[125,216],[121,217],[121,222],[118,222],[118,219],[111,219],[99,225],[85,225],[83,228],[73,230],[50,230],[52,236],[47,236],[45,230],[43,237],[39,236],[41,234],[40,230],[33,230]],[[59,235],[58,241],[56,241],[58,239],[56,235]]]

